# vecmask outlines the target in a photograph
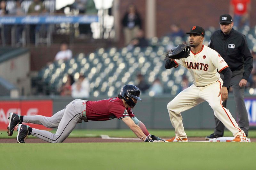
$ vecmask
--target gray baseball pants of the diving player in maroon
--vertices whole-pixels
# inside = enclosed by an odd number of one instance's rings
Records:
[[[66,108],[60,110],[52,117],[45,117],[41,115],[24,116],[23,122],[35,123],[43,125],[47,128],[57,128],[56,133],[51,133],[46,130],[39,130],[33,127],[31,135],[43,139],[50,143],[63,142],[71,131],[75,128],[77,123],[81,123],[85,112],[85,100],[76,99],[71,101]]]

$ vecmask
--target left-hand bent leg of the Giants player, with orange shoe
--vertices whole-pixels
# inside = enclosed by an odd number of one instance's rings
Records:
[[[202,102],[204,100],[199,97],[199,88],[195,85],[188,87],[180,92],[172,101],[167,105],[167,110],[170,116],[172,126],[175,128],[175,135],[177,138],[185,139],[187,135],[185,133],[181,112],[186,111]],[[169,142],[179,142],[170,139]]]

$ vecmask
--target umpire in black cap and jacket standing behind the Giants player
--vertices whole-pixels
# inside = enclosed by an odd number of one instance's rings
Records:
[[[220,30],[212,34],[209,47],[223,57],[232,71],[230,86],[233,88],[238,111],[238,124],[248,136],[249,120],[244,104],[244,88],[252,71],[252,54],[245,36],[234,30],[233,25],[234,22],[230,15],[221,15]],[[220,76],[223,78],[223,75],[220,74]],[[226,107],[227,100],[222,105]],[[223,137],[225,126],[215,116],[214,118],[216,127],[213,134],[205,138],[206,140]]]

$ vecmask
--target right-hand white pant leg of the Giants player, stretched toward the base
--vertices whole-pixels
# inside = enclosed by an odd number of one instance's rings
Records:
[[[234,137],[245,136],[244,131],[240,129],[229,110],[222,106],[221,95],[218,97],[222,83],[220,80],[203,87],[200,96],[209,103],[215,116],[233,133]]]

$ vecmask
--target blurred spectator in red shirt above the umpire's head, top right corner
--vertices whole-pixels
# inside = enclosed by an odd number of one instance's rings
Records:
[[[250,26],[251,0],[231,0],[229,13],[234,18],[236,29]]]

